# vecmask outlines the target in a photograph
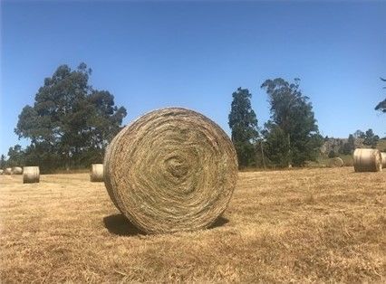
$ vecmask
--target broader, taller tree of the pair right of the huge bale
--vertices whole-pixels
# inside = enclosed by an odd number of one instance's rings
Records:
[[[271,119],[264,131],[266,149],[279,166],[304,166],[306,160],[316,159],[323,144],[312,104],[299,89],[299,81],[276,78],[261,85],[271,105]]]

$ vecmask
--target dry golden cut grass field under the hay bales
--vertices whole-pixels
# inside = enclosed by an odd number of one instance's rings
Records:
[[[240,173],[210,229],[138,232],[87,174],[0,176],[2,283],[385,282],[386,171]]]

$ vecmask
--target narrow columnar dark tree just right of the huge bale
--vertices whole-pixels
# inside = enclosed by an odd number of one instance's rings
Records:
[[[255,160],[255,142],[258,137],[256,113],[251,107],[252,94],[247,89],[238,88],[232,94],[229,113],[229,128],[236,147],[238,165],[252,166]]]

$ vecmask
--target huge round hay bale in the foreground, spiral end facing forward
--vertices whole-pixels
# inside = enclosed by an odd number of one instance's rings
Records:
[[[236,177],[227,134],[188,109],[138,118],[114,137],[104,158],[112,202],[148,233],[207,228],[227,208]]]

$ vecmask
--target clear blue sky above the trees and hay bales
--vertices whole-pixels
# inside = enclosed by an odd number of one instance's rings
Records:
[[[128,109],[182,106],[227,133],[232,92],[253,93],[259,126],[269,118],[260,85],[301,79],[323,136],[372,128],[386,136],[386,2],[1,3],[0,153],[28,141],[17,116],[61,65],[92,68],[92,86]]]

